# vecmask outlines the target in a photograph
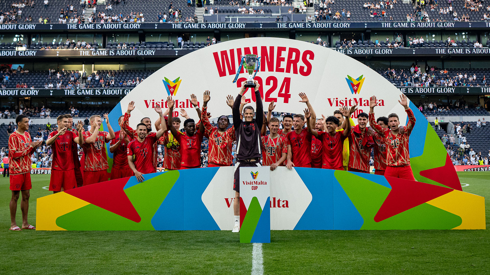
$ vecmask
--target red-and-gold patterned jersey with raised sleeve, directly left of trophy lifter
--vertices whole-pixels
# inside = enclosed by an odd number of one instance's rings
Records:
[[[207,107],[202,108],[201,114],[207,114]],[[204,124],[204,136],[209,139],[208,163],[231,165],[233,163],[231,148],[235,140],[235,127],[220,133],[218,127],[214,127],[209,123],[206,115],[201,116],[201,121]]]

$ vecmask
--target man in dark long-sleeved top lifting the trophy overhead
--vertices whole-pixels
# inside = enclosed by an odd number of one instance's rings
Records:
[[[235,166],[235,177],[233,182],[233,190],[235,190],[235,201],[233,202],[233,220],[235,226],[232,232],[240,231],[240,167],[257,167],[260,166],[259,161],[261,157],[261,139],[260,131],[262,129],[262,123],[264,119],[264,109],[262,106],[262,98],[259,92],[259,83],[254,80],[255,83],[255,98],[257,104],[257,115],[253,118],[253,107],[248,105],[244,107],[245,121],[240,117],[240,102],[242,96],[245,93],[245,83],[242,82],[242,88],[235,102],[233,103],[233,126],[235,127],[235,136],[237,138],[237,163]]]

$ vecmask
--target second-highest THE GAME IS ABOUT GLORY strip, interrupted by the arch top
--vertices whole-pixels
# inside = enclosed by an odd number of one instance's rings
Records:
[[[183,56],[198,49],[49,49],[0,50],[1,57],[121,57],[121,56]],[[349,56],[367,55],[490,55],[490,48],[338,48]]]

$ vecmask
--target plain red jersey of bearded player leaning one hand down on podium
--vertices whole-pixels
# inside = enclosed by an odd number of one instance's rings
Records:
[[[134,166],[138,172],[142,174],[156,172],[155,166],[153,166],[153,144],[156,141],[156,134],[152,133],[143,142],[135,138],[127,145],[126,158],[127,156],[133,157]]]

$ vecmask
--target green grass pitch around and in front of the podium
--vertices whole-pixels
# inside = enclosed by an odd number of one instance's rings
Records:
[[[271,231],[264,274],[489,274],[490,173],[458,175],[469,184],[464,191],[487,198],[486,230]],[[32,175],[32,225],[36,198],[51,194],[42,188],[48,183],[49,175]],[[1,275],[238,275],[252,268],[252,245],[231,231],[10,231],[7,178],[0,188]]]

